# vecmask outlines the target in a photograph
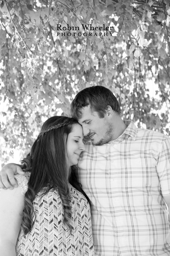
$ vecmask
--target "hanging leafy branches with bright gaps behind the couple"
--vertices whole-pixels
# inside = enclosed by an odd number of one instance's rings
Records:
[[[0,54],[3,164],[92,85],[115,93],[123,118],[170,133],[170,0],[1,0]]]

